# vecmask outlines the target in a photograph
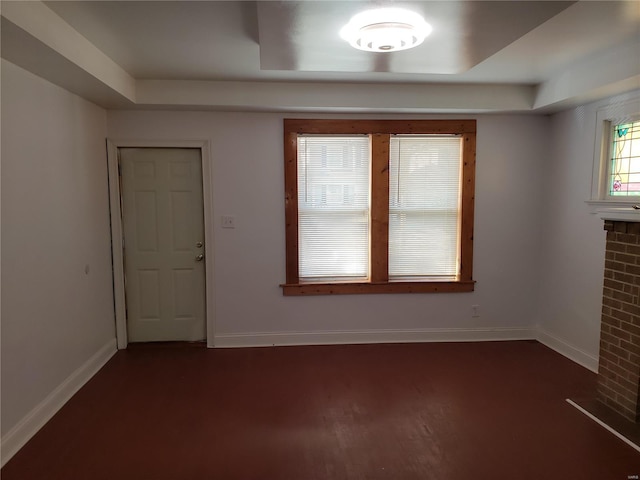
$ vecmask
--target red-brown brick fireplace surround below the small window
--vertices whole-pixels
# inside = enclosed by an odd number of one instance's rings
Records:
[[[598,398],[640,420],[640,223],[605,221]]]

